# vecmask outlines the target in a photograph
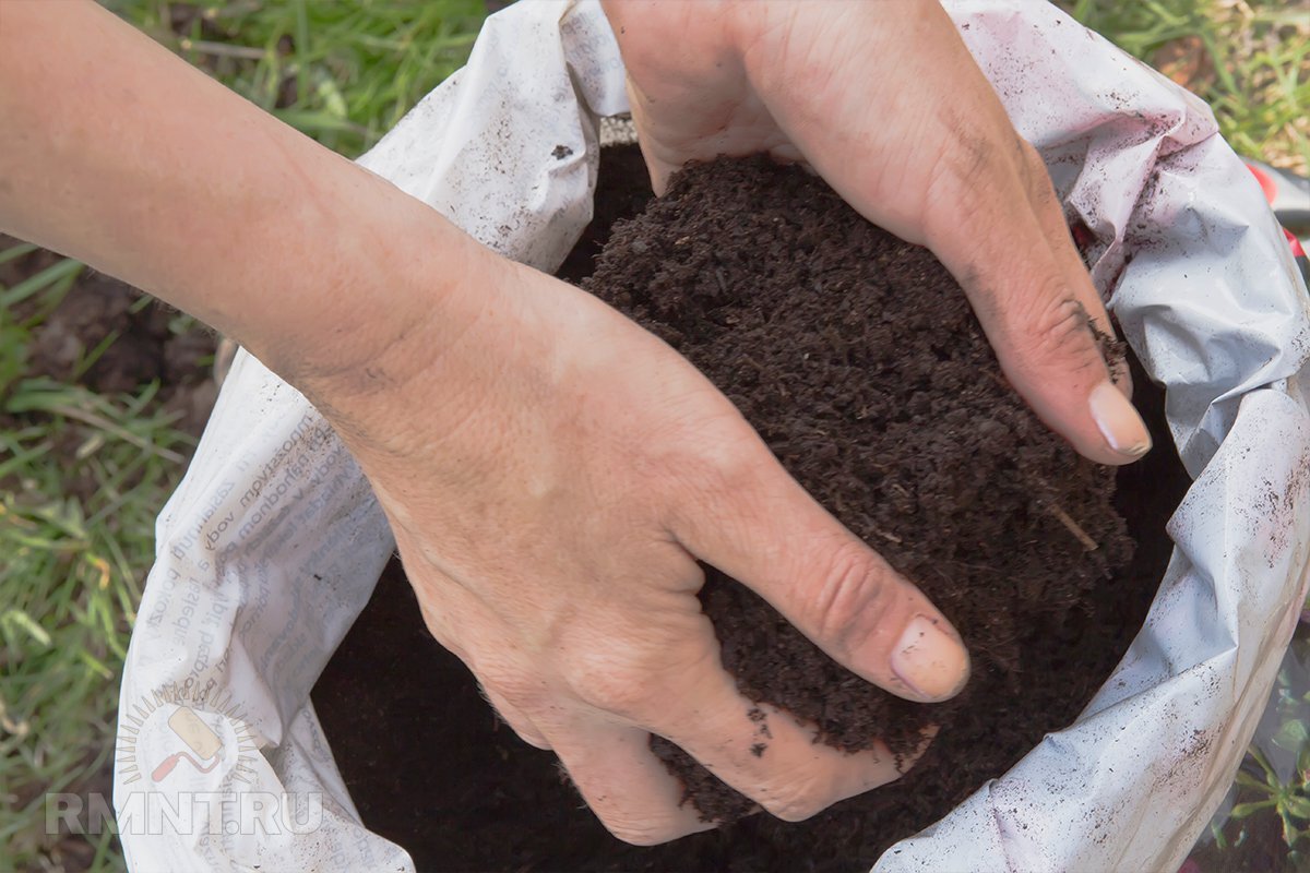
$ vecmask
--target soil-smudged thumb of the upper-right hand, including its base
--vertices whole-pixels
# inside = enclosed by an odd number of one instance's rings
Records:
[[[1095,325],[1112,335],[1104,305],[1069,240],[1035,149],[1014,131],[996,92],[954,30],[968,116],[943,105],[943,145],[933,165],[925,242],[964,288],[1006,378],[1034,412],[1085,457],[1129,463],[1150,433],[1111,378]],[[1028,208],[1023,208],[1027,205]]]

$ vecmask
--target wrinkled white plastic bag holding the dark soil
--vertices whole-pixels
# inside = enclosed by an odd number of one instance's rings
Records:
[[[1176,550],[1146,624],[1078,721],[875,869],[1172,870],[1233,777],[1305,597],[1305,289],[1195,97],[1041,0],[946,5],[1095,236],[1093,277],[1167,386],[1196,482],[1170,522]],[[626,109],[596,3],[517,4],[360,162],[549,271],[591,215],[597,119]],[[130,865],[413,869],[359,823],[309,702],[394,548],[318,412],[242,353],[157,534],[119,712]],[[183,707],[223,750],[208,772],[179,763],[156,780],[185,747],[168,726]],[[279,827],[263,808],[252,813],[262,830],[246,832],[229,809],[194,802],[182,823],[134,821],[144,796],[182,808],[187,792],[262,792],[308,810],[310,827],[286,815]]]

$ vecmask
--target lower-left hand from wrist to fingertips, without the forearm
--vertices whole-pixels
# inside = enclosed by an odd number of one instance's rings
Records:
[[[659,339],[485,250],[455,266],[470,291],[376,378],[312,394],[368,474],[428,627],[506,721],[638,844],[709,827],[651,733],[789,821],[896,779],[886,747],[844,754],[787,716],[751,753],[752,703],[720,664],[697,560],[913,700],[964,685],[951,624]]]

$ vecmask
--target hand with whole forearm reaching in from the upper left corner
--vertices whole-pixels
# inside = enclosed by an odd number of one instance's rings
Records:
[[[705,827],[651,730],[789,819],[897,775],[886,750],[844,755],[786,717],[749,753],[696,559],[903,696],[952,695],[968,657],[689,364],[100,7],[12,5],[0,226],[203,317],[300,387],[373,483],[436,636],[610,830]]]

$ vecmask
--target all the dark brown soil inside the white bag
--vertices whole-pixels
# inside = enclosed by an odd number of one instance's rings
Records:
[[[314,688],[326,736],[364,823],[421,870],[867,869],[1073,721],[1127,649],[1188,484],[1162,393],[1131,361],[1155,449],[1098,467],[1009,389],[945,268],[814,177],[764,158],[692,168],[612,238],[650,198],[635,148],[603,152],[599,183],[562,274],[582,279],[605,246],[584,287],[688,356],[927,592],[969,645],[969,686],[934,707],[887,695],[707,567],[702,606],[745,696],[844,749],[882,738],[905,751],[924,725],[939,733],[897,783],[808,822],[749,815],[635,848],[608,835],[552,754],[496,720],[393,561]],[[741,798],[679,749],[655,750],[689,802],[740,815]]]

